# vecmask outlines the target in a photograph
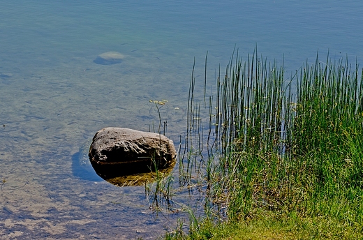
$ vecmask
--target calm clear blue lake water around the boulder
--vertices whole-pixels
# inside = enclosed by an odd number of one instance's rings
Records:
[[[235,46],[284,59],[287,76],[318,50],[362,63],[362,12],[361,1],[2,1],[0,236],[155,239],[188,223],[149,209],[145,187],[113,186],[82,165],[96,131],[152,130],[149,100],[168,100],[161,120],[179,144],[193,61],[204,81],[207,51],[211,91]],[[94,63],[108,51],[124,61]]]

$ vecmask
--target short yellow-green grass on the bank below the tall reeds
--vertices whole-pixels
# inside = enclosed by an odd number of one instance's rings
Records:
[[[200,231],[167,239],[362,239],[360,230],[323,216],[306,218],[290,214],[276,216],[264,213],[249,221],[233,221],[215,225],[202,223]]]

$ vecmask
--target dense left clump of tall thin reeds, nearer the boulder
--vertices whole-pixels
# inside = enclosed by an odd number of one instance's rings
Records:
[[[265,191],[267,168],[274,177],[284,178],[277,163],[285,158],[290,139],[288,95],[290,84],[283,80],[283,67],[268,63],[257,52],[242,61],[238,54],[217,80],[216,163],[212,200],[225,204],[228,211],[249,211],[253,202],[267,203],[266,197],[255,199],[256,190]],[[276,176],[279,175],[279,176]],[[260,176],[262,183],[257,181]],[[281,183],[274,183],[279,186]]]

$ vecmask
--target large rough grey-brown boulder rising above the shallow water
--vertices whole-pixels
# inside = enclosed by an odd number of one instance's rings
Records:
[[[175,163],[176,155],[168,137],[128,128],[103,128],[89,147],[91,164],[104,179],[165,169]]]

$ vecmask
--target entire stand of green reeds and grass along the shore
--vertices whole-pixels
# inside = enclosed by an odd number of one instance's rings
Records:
[[[287,77],[257,50],[246,59],[237,51],[214,96],[196,99],[195,84],[193,66],[179,188],[202,195],[204,213],[188,210],[188,230],[181,223],[165,239],[363,238],[357,63],[317,54]]]

